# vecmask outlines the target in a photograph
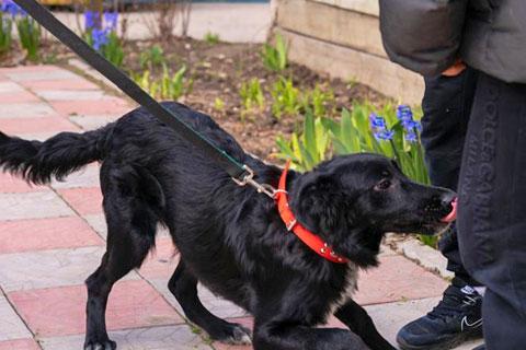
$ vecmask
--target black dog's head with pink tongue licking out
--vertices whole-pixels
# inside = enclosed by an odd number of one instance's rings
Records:
[[[456,194],[423,186],[376,154],[338,156],[294,182],[298,220],[359,266],[376,265],[387,232],[436,234],[455,211]]]

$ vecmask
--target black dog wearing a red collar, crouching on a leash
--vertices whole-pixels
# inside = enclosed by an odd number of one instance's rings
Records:
[[[277,186],[282,171],[243,152],[208,116],[167,103],[193,128]],[[105,327],[112,285],[140,267],[156,226],[171,232],[181,262],[169,282],[187,318],[213,339],[249,342],[249,330],[210,314],[197,281],[254,315],[256,350],[393,349],[355,302],[358,268],[377,265],[386,232],[434,234],[447,225],[455,196],[409,180],[382,156],[339,156],[309,173],[290,172],[287,190],[298,221],[348,264],[331,262],[289,233],[275,202],[240,187],[202,152],[145,109],[85,133],[45,142],[0,132],[0,165],[35,184],[101,161],[107,250],[87,280],[85,349],[115,349]],[[345,329],[319,329],[329,314]]]

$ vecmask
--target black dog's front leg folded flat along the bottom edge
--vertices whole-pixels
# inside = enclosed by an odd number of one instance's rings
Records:
[[[290,320],[255,319],[254,350],[370,350],[355,334],[339,328],[311,328]]]

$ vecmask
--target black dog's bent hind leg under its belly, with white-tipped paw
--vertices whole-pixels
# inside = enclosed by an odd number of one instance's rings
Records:
[[[182,259],[168,288],[181,304],[186,317],[203,328],[211,339],[235,345],[251,343],[249,329],[228,323],[203,306],[197,296],[197,279],[188,271]]]

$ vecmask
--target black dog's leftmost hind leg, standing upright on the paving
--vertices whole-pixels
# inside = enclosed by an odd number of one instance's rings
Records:
[[[135,198],[105,192],[107,248],[101,266],[91,275],[88,287],[84,350],[113,350],[116,343],[106,332],[105,311],[113,284],[132,269],[140,267],[155,244],[157,220],[148,207]],[[133,291],[130,291],[133,292]]]

